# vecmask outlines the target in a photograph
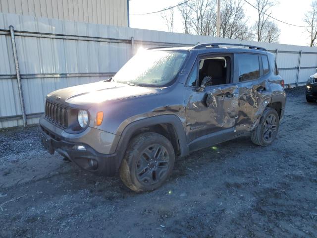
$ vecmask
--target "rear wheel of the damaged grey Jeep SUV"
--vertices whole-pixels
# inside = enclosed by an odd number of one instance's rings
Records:
[[[268,123],[268,122],[271,122]],[[260,119],[259,125],[251,132],[251,140],[254,144],[268,146],[275,139],[279,127],[279,116],[275,109],[266,108]]]

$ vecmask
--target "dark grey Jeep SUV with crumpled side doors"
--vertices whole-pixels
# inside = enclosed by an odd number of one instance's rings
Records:
[[[168,178],[176,156],[245,135],[271,144],[286,101],[275,57],[233,46],[143,50],[109,80],[50,93],[44,146],[147,191]]]

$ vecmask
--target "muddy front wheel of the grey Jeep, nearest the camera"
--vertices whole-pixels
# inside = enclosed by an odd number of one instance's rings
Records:
[[[166,181],[174,162],[171,142],[158,133],[145,132],[130,141],[119,169],[120,178],[133,191],[154,190]]]

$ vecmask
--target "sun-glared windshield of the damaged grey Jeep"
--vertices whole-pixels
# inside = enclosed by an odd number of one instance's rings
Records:
[[[114,75],[113,81],[136,85],[166,85],[175,78],[187,54],[177,51],[143,51],[124,64]]]

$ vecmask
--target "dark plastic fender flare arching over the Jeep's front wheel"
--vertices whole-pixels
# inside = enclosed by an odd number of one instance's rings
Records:
[[[125,150],[128,146],[128,143],[133,135],[133,133],[141,129],[143,127],[153,126],[153,125],[159,125],[169,123],[171,124],[176,132],[178,141],[179,141],[179,148],[180,148],[180,156],[186,156],[189,154],[189,148],[186,140],[186,133],[183,127],[183,124],[179,117],[176,115],[168,114],[168,115],[160,115],[160,116],[154,116],[150,118],[140,119],[131,122],[128,124],[122,131],[122,134],[120,136],[118,145],[116,147],[117,152],[117,158],[119,161],[117,161],[118,165],[121,164],[122,158],[124,156]]]

